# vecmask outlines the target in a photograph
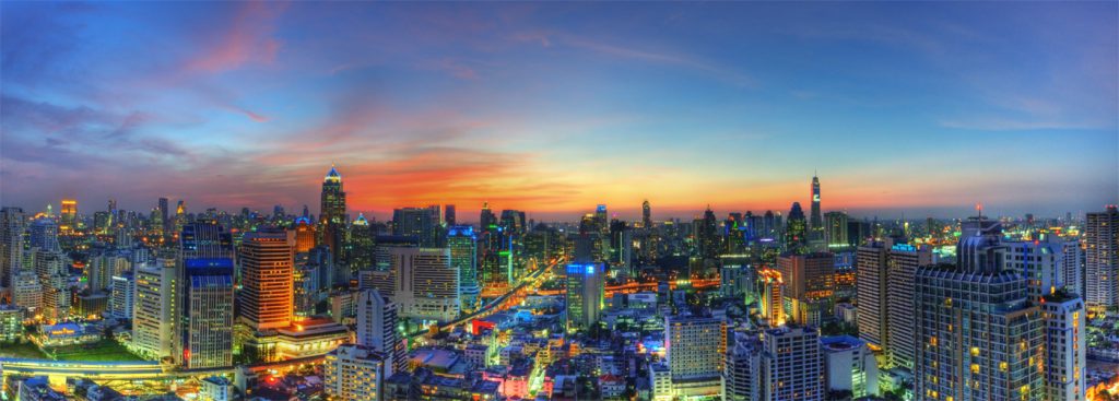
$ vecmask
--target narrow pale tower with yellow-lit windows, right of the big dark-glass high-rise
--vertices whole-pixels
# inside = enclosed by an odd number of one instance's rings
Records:
[[[1044,296],[1045,390],[1049,400],[1084,400],[1088,357],[1084,301],[1066,292]]]

